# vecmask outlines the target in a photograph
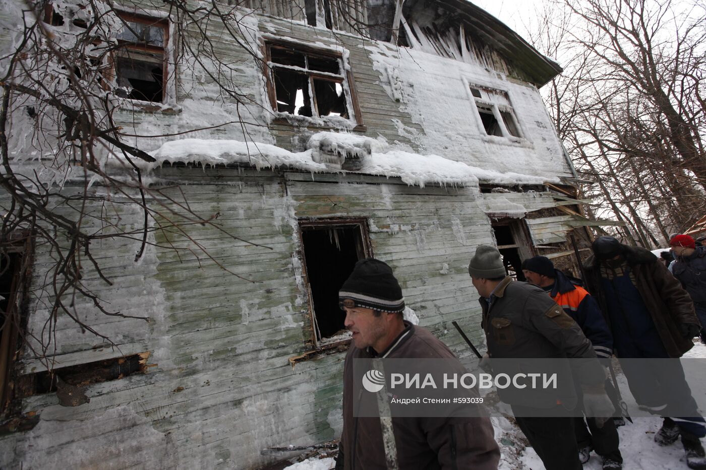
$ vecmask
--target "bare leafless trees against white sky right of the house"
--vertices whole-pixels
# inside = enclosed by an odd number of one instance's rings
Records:
[[[548,4],[537,47],[565,73],[545,93],[587,196],[657,246],[702,216],[704,5],[643,0]]]

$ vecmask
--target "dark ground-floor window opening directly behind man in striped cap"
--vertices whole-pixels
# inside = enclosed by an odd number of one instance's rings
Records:
[[[338,291],[358,260],[371,256],[367,224],[362,219],[302,221],[304,267],[311,301],[316,347],[345,332]],[[328,339],[328,341],[327,341]]]

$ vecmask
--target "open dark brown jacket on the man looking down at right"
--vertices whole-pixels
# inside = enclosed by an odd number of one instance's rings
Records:
[[[669,357],[681,357],[693,347],[693,342],[690,338],[682,337],[679,325],[699,324],[689,294],[659,262],[657,256],[645,248],[623,245],[623,258],[635,275],[635,287],[650,311],[664,349]],[[588,291],[598,301],[604,318],[610,325],[606,296],[601,288],[600,265],[595,255],[591,255],[586,260],[584,270]]]

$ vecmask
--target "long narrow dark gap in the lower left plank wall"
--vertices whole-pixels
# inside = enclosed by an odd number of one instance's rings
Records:
[[[61,382],[71,387],[85,387],[92,383],[118,380],[134,373],[144,372],[149,356],[150,353],[145,352],[23,375],[20,378],[19,389],[23,397],[28,397],[56,392],[57,386],[61,387]]]

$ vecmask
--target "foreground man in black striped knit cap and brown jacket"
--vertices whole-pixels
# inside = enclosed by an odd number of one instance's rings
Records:
[[[393,458],[394,468],[400,470],[496,470],[500,450],[489,418],[393,417],[390,436],[389,428],[383,431],[383,419],[356,416],[361,397],[354,392],[355,358],[458,359],[429,331],[402,320],[402,289],[382,261],[356,263],[339,299],[352,344],[344,366],[343,433],[336,469],[386,470]]]

